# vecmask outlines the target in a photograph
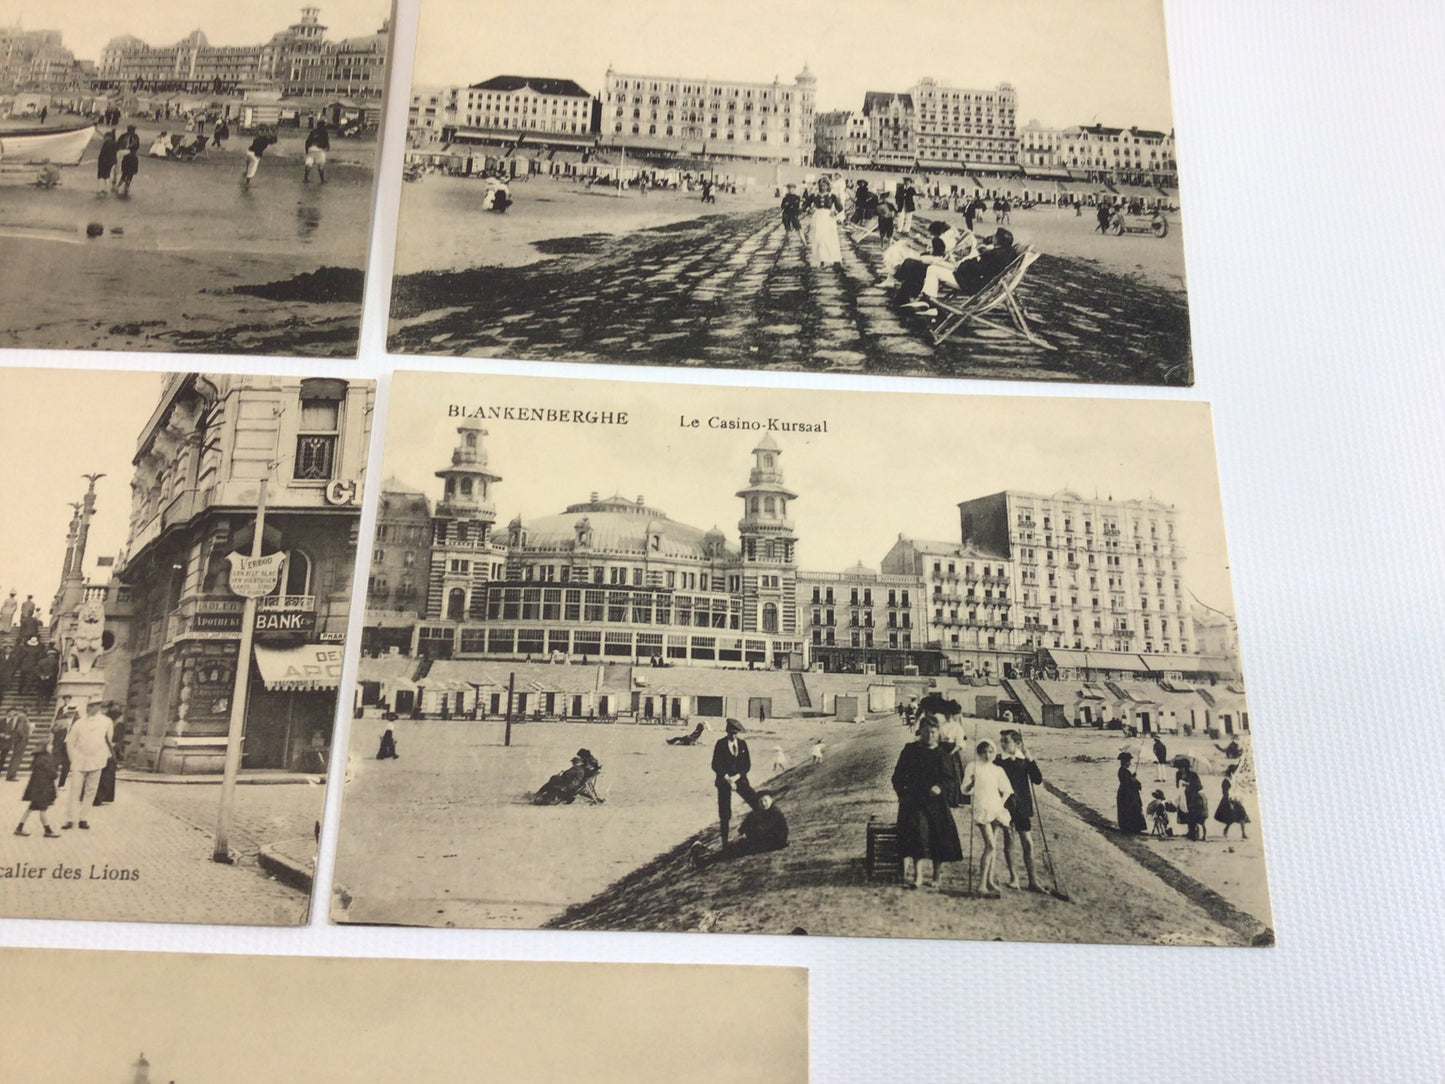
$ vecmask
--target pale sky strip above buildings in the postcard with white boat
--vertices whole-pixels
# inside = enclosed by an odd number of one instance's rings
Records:
[[[179,0],[117,4],[110,0],[0,0],[0,22],[26,30],[59,30],[65,48],[98,61],[111,38],[133,35],[147,45],[173,45],[202,30],[211,45],[256,45],[301,19],[305,4],[321,9],[327,40],[376,33],[392,10],[387,0]]]

